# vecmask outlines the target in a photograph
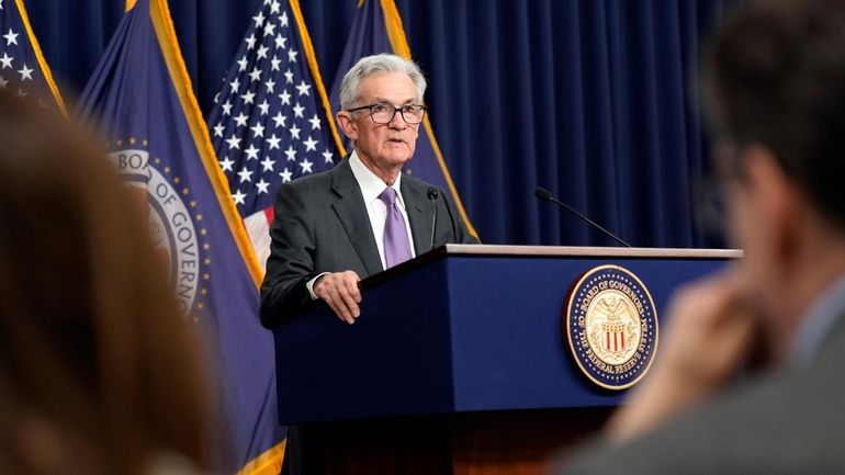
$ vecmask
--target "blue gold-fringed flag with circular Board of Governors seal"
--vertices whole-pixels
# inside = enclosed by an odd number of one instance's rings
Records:
[[[258,320],[261,271],[193,94],[166,0],[129,1],[80,101],[110,158],[149,208],[182,310],[207,336],[232,456],[221,472],[278,474],[272,333]],[[132,272],[131,269],[126,270]]]

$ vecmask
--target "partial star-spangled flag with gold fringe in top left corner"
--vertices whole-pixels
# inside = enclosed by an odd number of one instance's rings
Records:
[[[66,113],[23,0],[0,0],[0,89]]]

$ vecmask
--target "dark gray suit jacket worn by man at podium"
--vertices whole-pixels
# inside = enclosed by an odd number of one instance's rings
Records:
[[[432,248],[435,206],[433,247],[476,242],[442,190],[433,202],[429,200],[430,188],[402,177],[416,255]],[[364,279],[383,270],[363,195],[347,159],[333,170],[279,186],[273,210],[270,258],[261,284],[260,315],[266,327],[296,318],[311,302],[305,283],[322,272],[351,270]]]

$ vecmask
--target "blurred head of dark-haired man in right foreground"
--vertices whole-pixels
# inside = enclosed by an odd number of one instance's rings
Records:
[[[750,7],[714,38],[703,83],[746,292],[777,315],[786,284],[845,244],[845,1]]]

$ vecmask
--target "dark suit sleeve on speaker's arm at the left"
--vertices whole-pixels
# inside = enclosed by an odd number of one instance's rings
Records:
[[[312,302],[306,282],[314,272],[314,223],[300,191],[279,188],[270,226],[270,257],[261,284],[261,324],[272,328],[300,316]]]

